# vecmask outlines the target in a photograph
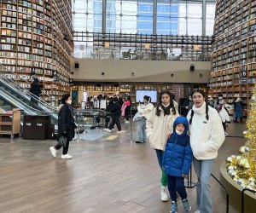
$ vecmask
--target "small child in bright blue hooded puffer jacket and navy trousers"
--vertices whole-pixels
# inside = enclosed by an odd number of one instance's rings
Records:
[[[177,117],[173,123],[173,133],[168,138],[163,156],[163,170],[168,176],[168,189],[172,199],[170,212],[177,212],[177,193],[183,201],[185,211],[191,210],[184,186],[184,178],[189,175],[193,153],[189,143],[189,123],[185,117]]]

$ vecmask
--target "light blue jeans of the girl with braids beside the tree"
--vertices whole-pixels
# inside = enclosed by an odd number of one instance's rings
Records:
[[[196,183],[197,210],[200,210],[201,213],[212,213],[210,177],[213,159],[197,160],[194,158],[193,164],[198,179]]]

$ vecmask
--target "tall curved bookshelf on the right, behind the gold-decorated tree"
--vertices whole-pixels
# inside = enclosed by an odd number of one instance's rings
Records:
[[[256,0],[218,0],[209,93],[249,107],[256,81]]]

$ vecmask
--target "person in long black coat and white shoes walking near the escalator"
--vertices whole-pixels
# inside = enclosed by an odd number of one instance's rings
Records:
[[[73,118],[73,107],[71,107],[71,98],[70,94],[62,95],[61,98],[61,105],[57,108],[58,110],[58,138],[57,140],[61,138],[61,136],[64,136],[67,138],[67,145],[66,147],[63,147],[62,150],[62,159],[71,159],[72,156],[69,155],[68,147],[69,147],[69,141],[73,140],[76,128],[76,124],[74,123]],[[57,151],[61,148],[60,144],[57,144],[55,147],[49,147],[50,152],[54,157],[56,157]]]

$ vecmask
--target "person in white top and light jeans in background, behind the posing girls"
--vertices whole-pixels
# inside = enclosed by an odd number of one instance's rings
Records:
[[[146,120],[149,116],[149,113],[154,109],[154,105],[151,103],[151,98],[148,95],[144,95],[143,104],[137,107],[137,111],[142,114],[142,117],[139,121],[138,126],[138,135],[139,139],[137,143],[143,143],[147,141],[146,135]]]

